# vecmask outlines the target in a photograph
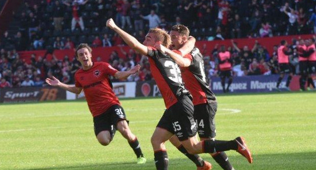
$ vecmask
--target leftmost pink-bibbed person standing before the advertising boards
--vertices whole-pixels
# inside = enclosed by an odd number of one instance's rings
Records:
[[[231,76],[231,66],[232,60],[230,57],[230,52],[226,51],[225,46],[222,45],[220,47],[220,52],[218,53],[219,59],[219,77],[221,81],[221,86],[223,87],[223,92],[229,92],[229,86],[232,83],[232,76]],[[228,84],[225,89],[225,79],[228,78]]]

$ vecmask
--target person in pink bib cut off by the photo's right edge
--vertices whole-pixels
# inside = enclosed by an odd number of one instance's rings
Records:
[[[308,56],[308,78],[307,78],[307,89],[311,85],[315,90],[315,84],[312,81],[311,76],[316,73],[316,49],[315,49],[315,40],[311,38],[309,40],[309,45],[307,47]]]

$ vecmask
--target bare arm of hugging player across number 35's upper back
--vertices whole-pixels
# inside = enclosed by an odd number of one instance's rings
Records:
[[[180,67],[189,67],[191,65],[192,61],[182,57],[181,51],[178,51],[179,53],[176,53],[166,48],[162,44],[155,44],[154,48],[168,54]]]

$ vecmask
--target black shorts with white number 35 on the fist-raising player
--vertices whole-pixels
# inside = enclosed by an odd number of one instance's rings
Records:
[[[176,104],[167,109],[156,127],[176,134],[180,141],[196,135],[197,127],[193,118],[194,106],[185,95]]]

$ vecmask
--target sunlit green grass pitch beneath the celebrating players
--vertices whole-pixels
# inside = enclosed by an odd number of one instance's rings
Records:
[[[242,135],[254,162],[227,151],[235,169],[316,169],[316,93],[218,96],[217,139]],[[162,98],[121,100],[147,163],[116,133],[98,143],[86,101],[0,105],[0,169],[155,169],[150,137]],[[196,169],[170,142],[169,169]],[[201,156],[220,169],[209,154]]]

